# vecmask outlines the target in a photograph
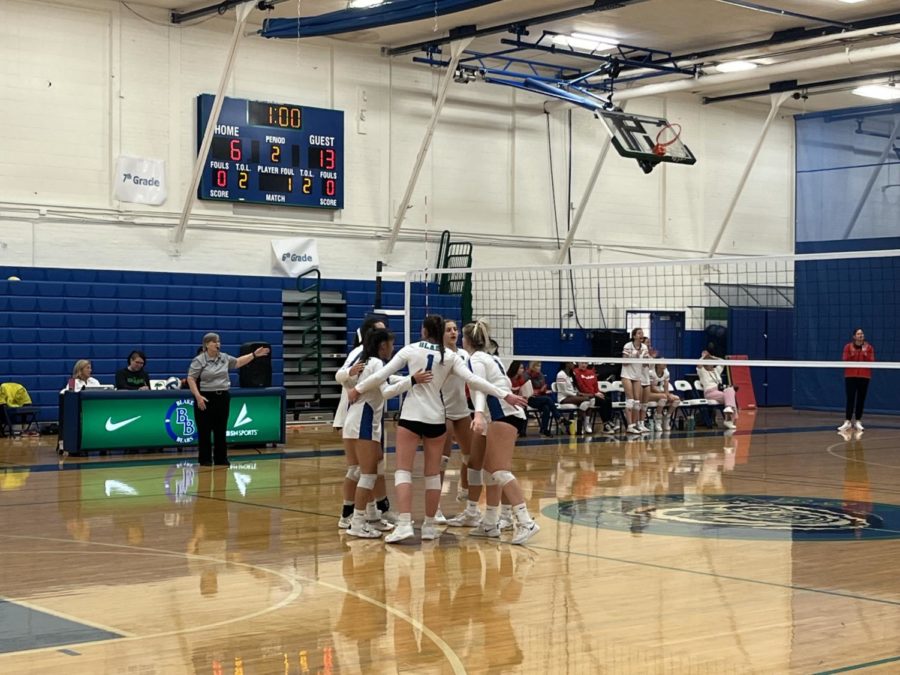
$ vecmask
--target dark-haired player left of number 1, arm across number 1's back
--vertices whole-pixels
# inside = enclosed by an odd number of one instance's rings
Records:
[[[393,353],[393,333],[384,329],[369,331],[360,355],[360,362],[364,364],[360,379],[383,368],[384,361]],[[344,443],[348,444],[359,461],[360,476],[354,495],[353,518],[347,534],[375,538],[381,536],[382,530],[392,529],[389,525],[382,524],[380,519],[374,524],[369,523],[366,516],[366,507],[378,477],[378,463],[383,457],[381,440],[384,402],[385,399],[409,391],[414,381],[416,384],[425,384],[430,380],[431,373],[421,371],[411,377],[399,378],[393,384],[383,382],[380,387],[369,390],[350,405],[344,418],[342,435]]]

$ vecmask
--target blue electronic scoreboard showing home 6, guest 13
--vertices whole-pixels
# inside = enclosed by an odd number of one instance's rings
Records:
[[[197,97],[197,144],[214,97]],[[225,98],[198,197],[229,202],[344,207],[344,113]]]

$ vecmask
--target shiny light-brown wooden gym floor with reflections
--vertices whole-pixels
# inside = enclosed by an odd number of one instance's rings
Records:
[[[0,672],[900,672],[900,422],[839,422],[531,436],[525,547],[339,534],[327,429],[230,470],[2,439]]]

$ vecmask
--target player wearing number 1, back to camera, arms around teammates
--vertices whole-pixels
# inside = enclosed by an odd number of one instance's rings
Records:
[[[394,485],[400,516],[397,527],[385,537],[388,543],[409,539],[414,535],[412,523],[412,465],[419,441],[425,450],[425,522],[422,539],[436,539],[434,515],[441,499],[441,451],[447,434],[447,419],[441,387],[451,375],[464,379],[471,388],[484,390],[497,398],[515,405],[524,405],[524,399],[502,390],[490,382],[475,376],[454,352],[444,350],[444,320],[432,314],[422,323],[422,340],[406,345],[381,370],[361,381],[348,392],[350,401],[360,394],[378,387],[390,375],[407,367],[410,372],[430,371],[431,382],[414,386],[403,402],[400,422],[397,425],[397,470]]]

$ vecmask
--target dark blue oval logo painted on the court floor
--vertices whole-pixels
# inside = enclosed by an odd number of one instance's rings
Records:
[[[598,497],[561,501],[544,514],[633,534],[794,541],[900,538],[900,507],[814,497]]]

